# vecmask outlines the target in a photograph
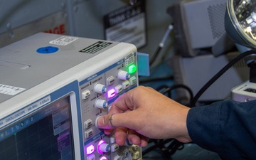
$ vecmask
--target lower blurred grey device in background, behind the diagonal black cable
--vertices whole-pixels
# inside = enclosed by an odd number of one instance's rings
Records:
[[[176,55],[171,59],[170,65],[174,69],[174,81],[177,84],[184,84],[191,88],[195,95],[203,85],[213,78],[226,64],[233,60],[240,53],[233,52],[225,55],[214,57],[213,55],[201,55],[193,58],[183,58]],[[233,65],[225,74],[223,74],[216,82],[211,85],[206,92],[201,95],[198,101],[214,102],[217,100],[225,100],[230,97],[230,90],[247,80],[249,68],[243,60]],[[177,100],[189,102],[186,90],[176,90]]]

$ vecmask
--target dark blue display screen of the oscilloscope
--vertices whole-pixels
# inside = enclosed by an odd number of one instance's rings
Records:
[[[0,132],[1,160],[72,160],[70,97],[63,97]]]

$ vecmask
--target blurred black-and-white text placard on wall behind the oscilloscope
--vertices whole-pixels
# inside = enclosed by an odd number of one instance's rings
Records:
[[[137,48],[146,45],[145,5],[124,6],[104,16],[107,41],[132,43]]]

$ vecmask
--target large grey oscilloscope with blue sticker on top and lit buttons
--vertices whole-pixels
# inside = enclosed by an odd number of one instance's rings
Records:
[[[137,48],[37,33],[0,49],[1,160],[142,160],[95,127],[138,85]]]

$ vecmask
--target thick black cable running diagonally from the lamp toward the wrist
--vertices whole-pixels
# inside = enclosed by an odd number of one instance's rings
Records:
[[[210,85],[213,84],[213,82],[215,82],[216,80],[218,80],[218,78],[220,78],[221,75],[223,75],[223,73],[225,73],[229,68],[231,68],[235,63],[237,63],[239,60],[241,60],[242,58],[245,58],[247,55],[252,55],[255,54],[256,51],[255,50],[249,50],[246,51],[245,53],[242,53],[240,55],[238,55],[237,57],[235,57],[233,60],[231,60],[227,65],[225,65],[224,68],[222,68],[217,74],[215,74],[213,76],[213,78],[211,78],[206,85],[204,85],[201,90],[198,91],[198,93],[196,94],[195,97],[193,97],[193,100],[191,102],[191,107],[194,107],[196,105],[196,102],[198,101],[199,97],[201,97],[201,95],[203,95],[203,92],[205,92],[208,87],[210,87]]]

